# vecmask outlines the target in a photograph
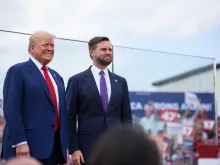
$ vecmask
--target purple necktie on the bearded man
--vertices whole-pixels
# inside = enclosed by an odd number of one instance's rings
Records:
[[[107,106],[108,106],[108,92],[107,92],[107,85],[106,85],[106,81],[105,81],[105,77],[104,77],[105,73],[103,71],[100,71],[99,74],[101,75],[101,78],[100,78],[100,95],[101,95],[103,107],[106,111]]]

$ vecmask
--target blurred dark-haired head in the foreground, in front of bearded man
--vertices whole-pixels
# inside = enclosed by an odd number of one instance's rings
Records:
[[[117,127],[92,151],[89,165],[162,165],[157,145],[141,129]]]

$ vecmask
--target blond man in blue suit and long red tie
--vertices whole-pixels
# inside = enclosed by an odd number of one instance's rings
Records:
[[[44,165],[67,161],[68,133],[62,77],[48,67],[54,57],[54,36],[30,36],[26,62],[9,68],[3,89],[6,120],[3,159],[32,156]]]

